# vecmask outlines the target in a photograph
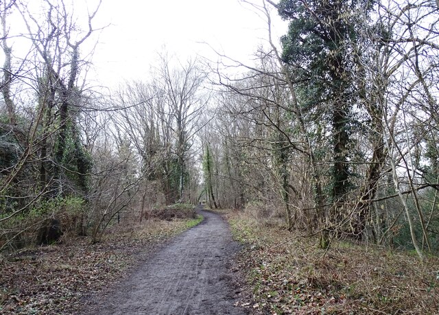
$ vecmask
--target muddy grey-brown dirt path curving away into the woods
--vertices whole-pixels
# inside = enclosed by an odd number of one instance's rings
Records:
[[[239,246],[217,214],[155,253],[84,314],[245,314],[233,306],[230,259]]]

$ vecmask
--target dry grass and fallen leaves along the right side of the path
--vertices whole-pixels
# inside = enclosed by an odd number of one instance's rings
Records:
[[[318,240],[227,215],[260,314],[439,314],[439,259],[376,246]]]

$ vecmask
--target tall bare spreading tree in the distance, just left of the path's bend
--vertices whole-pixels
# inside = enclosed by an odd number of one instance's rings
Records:
[[[208,97],[202,91],[204,72],[197,60],[182,63],[167,55],[161,56],[155,80],[157,91],[164,98],[161,117],[169,123],[174,143],[170,148],[175,156],[167,166],[171,186],[169,202],[182,201],[187,184],[187,163],[195,135],[200,130],[198,122]]]

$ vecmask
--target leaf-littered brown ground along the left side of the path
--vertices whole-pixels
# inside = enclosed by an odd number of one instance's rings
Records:
[[[78,314],[91,292],[126,279],[158,248],[200,220],[144,220],[113,226],[101,242],[61,244],[0,256],[0,314]]]

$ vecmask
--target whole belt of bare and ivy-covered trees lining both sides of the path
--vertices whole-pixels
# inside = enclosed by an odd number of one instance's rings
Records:
[[[149,78],[111,93],[88,84],[82,50],[105,32],[99,4],[1,3],[1,251],[97,242],[117,222],[205,200],[322,248],[436,255],[438,3],[246,3],[266,23],[251,63],[162,51]],[[274,14],[288,23],[281,45]]]

